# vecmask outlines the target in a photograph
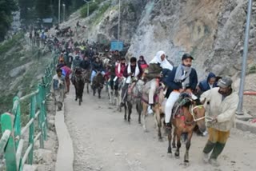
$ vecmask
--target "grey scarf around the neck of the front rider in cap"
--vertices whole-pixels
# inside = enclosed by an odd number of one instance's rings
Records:
[[[182,82],[182,88],[186,88],[190,84],[190,73],[191,67],[180,64],[176,70],[174,82]]]

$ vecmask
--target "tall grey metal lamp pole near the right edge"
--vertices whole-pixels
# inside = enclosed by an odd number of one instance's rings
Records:
[[[245,86],[245,78],[246,78],[246,66],[247,66],[247,57],[248,57],[248,42],[249,42],[249,32],[250,32],[250,15],[252,10],[252,0],[248,2],[248,10],[247,10],[247,18],[246,18],[246,38],[244,42],[243,55],[242,55],[242,74],[241,81],[239,87],[239,103],[238,110],[236,114],[243,115],[242,111],[242,103],[243,103],[243,91]]]

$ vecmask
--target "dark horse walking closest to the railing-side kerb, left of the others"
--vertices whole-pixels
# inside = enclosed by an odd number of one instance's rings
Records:
[[[71,78],[71,82],[74,85],[74,89],[75,89],[75,101],[77,101],[79,99],[79,105],[81,105],[82,102],[82,93],[83,93],[83,89],[85,86],[85,81],[84,78],[82,76],[82,70],[81,69],[76,69],[74,70],[74,75]]]

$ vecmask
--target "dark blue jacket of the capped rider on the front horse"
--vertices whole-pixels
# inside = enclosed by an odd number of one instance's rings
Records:
[[[182,82],[174,82],[176,70],[177,70],[177,67],[175,67],[174,70],[172,70],[169,73],[168,78],[166,79],[166,82],[165,82],[170,92],[173,91],[174,89],[177,89],[177,90],[182,89]],[[198,74],[196,70],[192,68],[190,73],[190,85],[188,85],[186,89],[192,89],[193,91],[194,89],[196,89],[197,85],[198,85]]]

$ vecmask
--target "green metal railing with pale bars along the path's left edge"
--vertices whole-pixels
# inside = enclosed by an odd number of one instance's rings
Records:
[[[0,154],[6,159],[7,171],[22,171],[26,163],[33,164],[34,143],[40,141],[40,148],[44,148],[47,140],[47,113],[46,98],[50,95],[50,85],[55,66],[57,53],[53,54],[53,61],[47,66],[42,83],[38,89],[23,97],[14,97],[11,113],[3,113],[1,116],[2,137],[0,140]],[[30,100],[30,121],[21,126],[21,102]],[[38,124],[36,124],[36,121]],[[25,147],[22,135],[29,129],[28,145]],[[25,153],[22,155],[22,152]]]

